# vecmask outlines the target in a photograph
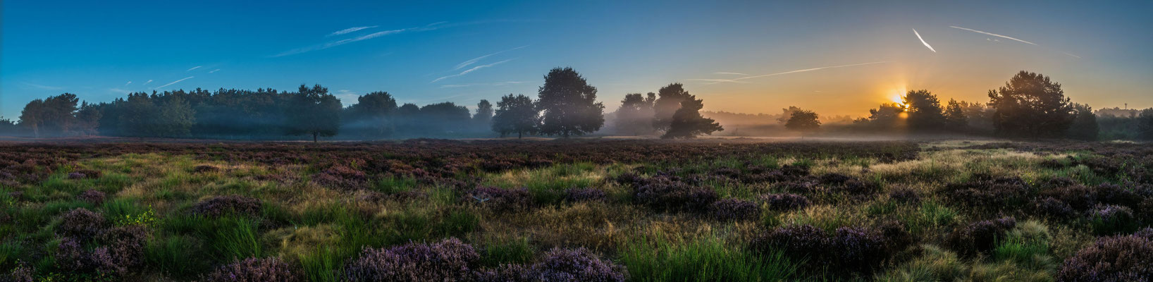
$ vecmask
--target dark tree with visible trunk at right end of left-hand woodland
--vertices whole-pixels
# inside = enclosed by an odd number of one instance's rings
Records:
[[[293,94],[287,112],[288,135],[312,135],[312,142],[319,136],[333,136],[340,131],[340,99],[329,94],[329,89],[319,84],[308,88],[300,86]]]

